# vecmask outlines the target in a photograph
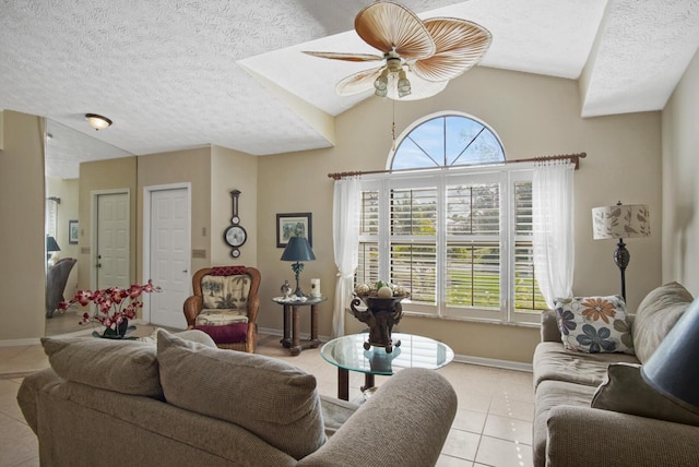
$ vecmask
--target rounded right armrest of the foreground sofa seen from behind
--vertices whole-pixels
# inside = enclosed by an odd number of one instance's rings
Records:
[[[434,370],[401,370],[298,465],[431,466],[455,412],[457,394],[446,378]]]

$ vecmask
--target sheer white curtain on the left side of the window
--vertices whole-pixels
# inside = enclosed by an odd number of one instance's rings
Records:
[[[362,182],[352,177],[335,181],[332,209],[332,239],[337,266],[332,337],[345,334],[345,308],[350,304],[354,272],[358,263]]]

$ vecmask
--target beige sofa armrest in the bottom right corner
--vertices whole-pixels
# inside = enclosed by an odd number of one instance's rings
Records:
[[[546,465],[699,465],[699,427],[578,406],[553,407]]]

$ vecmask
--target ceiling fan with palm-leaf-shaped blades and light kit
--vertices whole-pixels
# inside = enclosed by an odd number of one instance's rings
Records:
[[[335,92],[351,96],[375,89],[390,99],[417,100],[440,93],[450,80],[478,63],[493,36],[485,27],[455,17],[420,20],[407,8],[377,1],[362,10],[354,28],[382,56],[304,51],[313,57],[383,64],[341,80]],[[408,79],[410,77],[410,79]]]

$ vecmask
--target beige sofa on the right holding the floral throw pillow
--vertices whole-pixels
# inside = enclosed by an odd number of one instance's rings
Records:
[[[562,313],[543,313],[533,362],[535,467],[699,466],[699,415],[657,394],[640,375],[640,366],[691,302],[677,283],[651,291],[623,320],[632,338],[626,354],[566,350]]]

